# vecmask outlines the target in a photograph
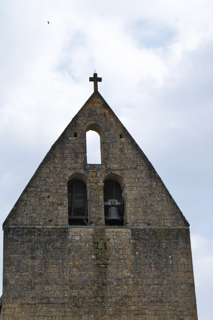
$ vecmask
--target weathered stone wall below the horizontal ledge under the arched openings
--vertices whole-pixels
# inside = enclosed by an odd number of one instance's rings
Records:
[[[3,320],[195,320],[189,228],[4,228]]]

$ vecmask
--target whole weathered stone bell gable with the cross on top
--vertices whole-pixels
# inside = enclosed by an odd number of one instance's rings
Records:
[[[4,221],[3,320],[197,320],[189,224],[101,80]]]

